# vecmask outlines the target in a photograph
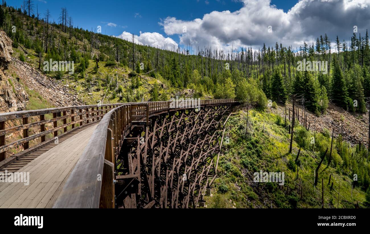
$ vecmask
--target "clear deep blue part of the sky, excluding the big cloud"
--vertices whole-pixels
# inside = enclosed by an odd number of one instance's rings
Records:
[[[66,7],[73,17],[75,26],[84,29],[102,26],[102,33],[119,35],[122,31],[139,34],[142,32],[158,32],[165,34],[163,27],[158,24],[161,19],[168,16],[181,20],[193,20],[202,18],[211,11],[236,11],[243,3],[236,0],[161,0],[161,1],[128,1],[128,0],[33,0],[36,15],[36,5],[40,16],[43,17],[46,9],[51,11],[51,16],[58,21],[61,7]],[[278,8],[287,11],[294,6],[295,0],[273,0]],[[7,0],[7,4],[23,5],[23,0]],[[107,23],[117,26],[107,26]],[[172,39],[179,41],[178,36],[172,35]]]

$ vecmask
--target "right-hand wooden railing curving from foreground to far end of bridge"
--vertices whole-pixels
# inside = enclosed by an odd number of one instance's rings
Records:
[[[169,112],[172,109],[171,103],[171,101],[127,103],[105,114],[53,208],[114,208],[115,160],[125,136],[134,124],[145,122],[148,124],[151,116]],[[201,106],[234,103],[236,101],[233,99],[200,101]],[[175,103],[175,108],[180,109],[179,104]],[[101,180],[97,179],[99,176]]]

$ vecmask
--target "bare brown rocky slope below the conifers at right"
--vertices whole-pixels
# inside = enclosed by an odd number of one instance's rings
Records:
[[[287,116],[289,115],[288,108],[292,109],[291,104],[287,104]],[[277,106],[276,109],[272,108],[272,112],[275,114],[280,114],[285,118],[285,106]],[[302,123],[302,112],[305,113],[303,107],[299,107],[299,121]],[[292,115],[292,111],[290,112]],[[329,108],[327,109],[327,114],[317,117],[310,111],[306,111],[307,114],[307,126],[310,122],[310,130],[314,130],[316,126],[316,131],[322,132],[324,128],[329,129],[330,133],[334,128],[334,136],[342,133],[343,124],[343,138],[349,141],[351,144],[361,144],[368,145],[369,140],[369,115],[350,113],[341,107],[337,107],[333,103],[329,103]],[[287,117],[288,118],[288,117]]]

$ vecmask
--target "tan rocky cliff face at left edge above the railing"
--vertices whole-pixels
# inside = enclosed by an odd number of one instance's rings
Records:
[[[28,101],[24,87],[6,73],[13,54],[11,43],[6,33],[0,31],[0,112],[23,110]]]

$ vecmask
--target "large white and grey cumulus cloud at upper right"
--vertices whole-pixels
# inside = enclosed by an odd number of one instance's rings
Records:
[[[244,0],[237,11],[212,11],[202,19],[167,17],[160,23],[167,35],[178,35],[186,46],[262,47],[280,42],[299,47],[327,33],[329,38],[347,40],[358,27],[363,36],[370,26],[370,0],[300,0],[288,12],[270,0]],[[269,26],[272,30],[269,31]]]

